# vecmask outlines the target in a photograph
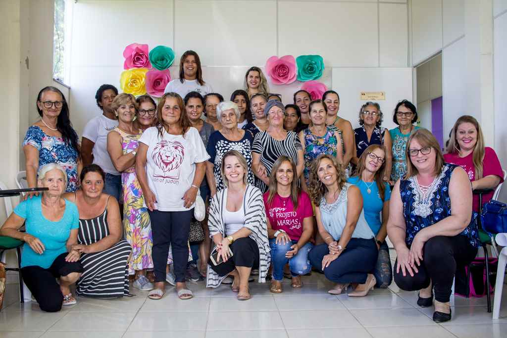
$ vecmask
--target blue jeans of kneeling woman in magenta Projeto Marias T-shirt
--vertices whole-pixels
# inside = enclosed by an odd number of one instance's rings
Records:
[[[308,242],[298,253],[291,259],[285,257],[287,251],[291,251],[291,246],[298,243],[298,241],[291,241],[283,244],[276,244],[276,238],[269,240],[271,248],[271,264],[273,265],[273,279],[281,281],[283,279],[283,267],[289,264],[291,267],[291,274],[293,276],[306,275],[312,270],[310,261],[308,260],[308,252],[312,249],[313,244]]]

